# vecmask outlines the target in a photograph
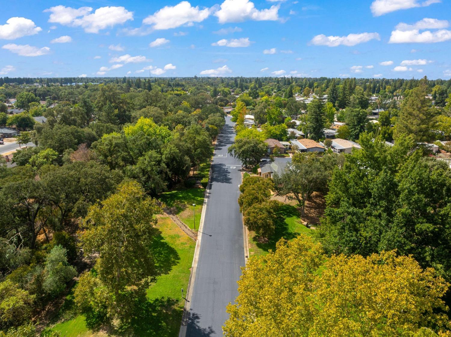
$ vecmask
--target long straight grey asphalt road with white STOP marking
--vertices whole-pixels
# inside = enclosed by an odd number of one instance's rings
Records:
[[[226,306],[238,296],[236,281],[244,266],[243,222],[237,202],[241,162],[227,154],[235,139],[234,124],[226,117],[217,138],[186,337],[222,336]]]

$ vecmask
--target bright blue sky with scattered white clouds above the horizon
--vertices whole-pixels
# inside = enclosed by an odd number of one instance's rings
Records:
[[[451,77],[448,0],[23,1],[0,76]]]

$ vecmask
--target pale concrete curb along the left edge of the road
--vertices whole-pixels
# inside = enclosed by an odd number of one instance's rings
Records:
[[[213,155],[214,155],[214,152],[213,152]],[[212,163],[212,160],[210,162]],[[210,171],[208,172],[208,185],[207,185],[207,188],[205,189],[205,196],[203,198],[202,213],[200,216],[200,224],[199,224],[199,230],[198,230],[198,233],[200,232],[201,235],[198,235],[197,241],[196,241],[196,248],[194,249],[193,264],[191,265],[191,273],[189,274],[188,289],[186,290],[185,305],[183,307],[183,315],[182,315],[182,322],[180,324],[179,337],[186,336],[186,329],[188,326],[189,310],[191,309],[191,295],[193,292],[194,280],[196,279],[197,264],[198,264],[198,260],[199,260],[200,242],[202,239],[203,222],[205,219],[205,212],[207,211],[208,195],[210,194],[210,178],[211,178],[211,176],[212,176],[212,166],[210,165]]]

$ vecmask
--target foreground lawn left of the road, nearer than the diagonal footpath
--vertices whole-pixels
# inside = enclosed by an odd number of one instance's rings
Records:
[[[56,319],[60,323],[51,324],[45,331],[60,331],[65,337],[176,337],[184,306],[180,289],[188,287],[195,242],[168,217],[160,217],[157,228],[160,234],[152,242],[152,250],[160,276],[147,290],[148,301],[143,304],[140,315],[131,322],[131,329],[124,333],[108,327],[100,331],[91,330],[85,316],[75,310],[73,296],[69,294]]]

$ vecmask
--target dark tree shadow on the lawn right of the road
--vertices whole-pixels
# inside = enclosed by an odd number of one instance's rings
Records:
[[[293,232],[289,225],[286,223],[286,219],[296,216],[299,218],[299,211],[296,207],[286,204],[281,204],[281,206],[276,211],[277,220],[276,220],[276,230],[274,233],[274,236],[270,238],[267,242],[259,242],[258,236],[254,236],[252,240],[255,242],[255,245],[264,250],[265,252],[268,252],[270,249],[272,251],[276,250],[276,243],[281,238],[285,238],[286,240],[291,240],[295,237],[297,237],[300,233]],[[300,218],[299,218],[300,220]]]

